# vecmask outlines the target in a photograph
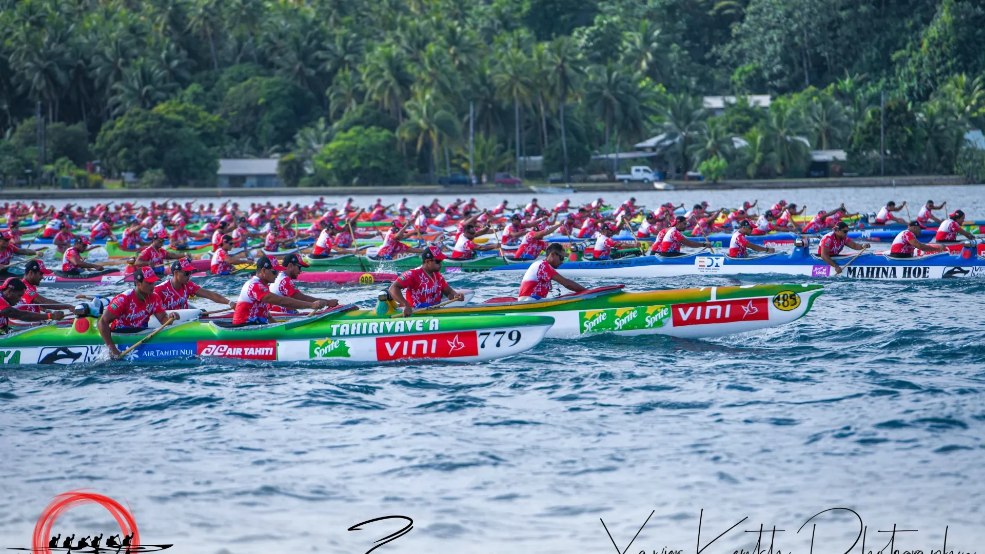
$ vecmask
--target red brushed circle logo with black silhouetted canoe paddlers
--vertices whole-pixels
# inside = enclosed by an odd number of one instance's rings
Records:
[[[76,534],[53,534],[55,521],[73,508],[86,504],[99,504],[105,508],[120,526],[119,534],[113,534],[105,539],[99,535],[84,535],[76,538]],[[130,511],[115,500],[96,493],[76,489],[62,493],[53,499],[41,512],[41,517],[34,524],[32,545],[23,548],[8,548],[8,550],[25,550],[52,554],[55,552],[73,552],[78,554],[134,554],[137,552],[157,552],[170,548],[171,544],[141,544],[137,522]]]

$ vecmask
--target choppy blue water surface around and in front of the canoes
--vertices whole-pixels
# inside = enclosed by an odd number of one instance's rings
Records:
[[[985,218],[982,192],[844,194],[866,211],[943,197]],[[636,194],[650,204],[840,201],[826,189],[656,196]],[[479,299],[516,289],[488,275],[452,285]],[[476,365],[5,369],[0,547],[29,546],[49,498],[86,487],[128,501],[144,541],[176,552],[361,553],[402,523],[347,527],[388,515],[415,528],[377,552],[612,552],[599,519],[623,550],[651,511],[629,552],[694,552],[703,509],[702,546],[749,518],[705,553],[752,550],[755,533],[741,531],[760,524],[784,529],[774,550],[806,553],[810,525],[798,527],[834,507],[862,516],[866,550],[886,546],[876,531],[895,523],[919,529],[896,536],[900,551],[942,548],[946,525],[949,550],[980,551],[983,294],[982,281],[831,280],[812,312],[783,327],[711,340],[545,340]],[[324,296],[364,301],[372,291]],[[853,521],[821,522],[815,551],[845,551]],[[117,532],[95,508],[58,526]]]

